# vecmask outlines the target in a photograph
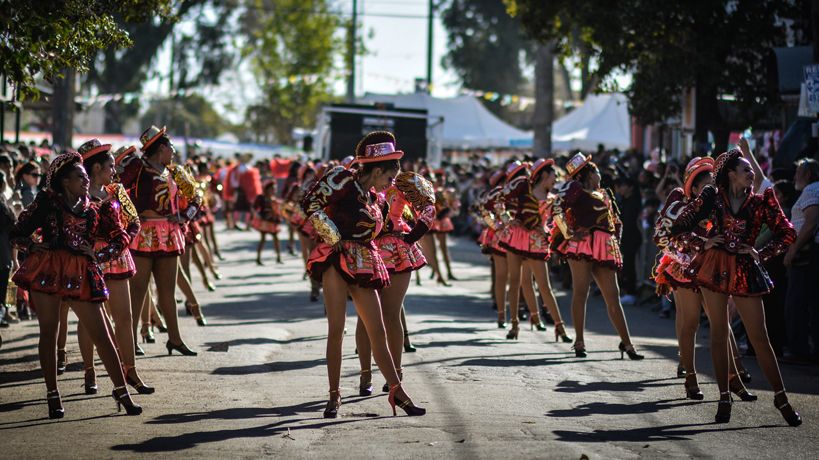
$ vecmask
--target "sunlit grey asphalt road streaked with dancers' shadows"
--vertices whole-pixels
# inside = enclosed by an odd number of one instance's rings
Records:
[[[210,325],[182,318],[183,336],[200,354],[167,356],[163,334],[143,345],[137,364],[157,392],[135,398],[142,416],[116,413],[101,365],[99,395],[83,394],[72,316],[71,364],[59,378],[66,417],[48,420],[36,322],[2,331],[0,458],[819,458],[819,367],[783,366],[805,421],[791,428],[745,358],[760,399],[736,402],[731,423],[716,425],[707,329],[697,350],[705,401],[683,398],[673,321],[649,307],[626,308],[641,362],[619,359],[599,297],[588,308],[587,359],[555,343],[551,327],[507,341],[490,308],[488,264],[466,240],[452,248],[460,280],[437,286],[425,271],[406,302],[418,352],[405,355],[405,386],[428,414],[392,417],[386,394],[357,396],[349,334],[340,417],[325,420],[326,322],[322,305],[308,301],[300,260],[275,265],[269,257],[256,267],[254,232],[219,236],[227,260],[218,290],[206,293],[195,278]],[[558,300],[568,318],[569,298],[559,292]],[[383,381],[376,373],[376,388]]]

